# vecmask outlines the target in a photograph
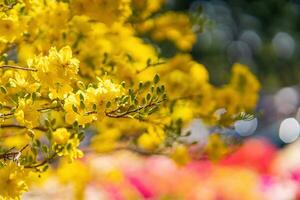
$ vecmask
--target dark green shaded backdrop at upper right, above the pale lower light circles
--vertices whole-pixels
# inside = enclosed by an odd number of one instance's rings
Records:
[[[211,21],[193,55],[208,67],[213,83],[225,82],[234,62],[248,64],[268,91],[300,82],[300,1],[170,0],[168,6],[202,7]]]

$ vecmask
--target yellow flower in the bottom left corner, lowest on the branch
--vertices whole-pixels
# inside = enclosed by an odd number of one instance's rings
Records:
[[[0,168],[0,198],[20,199],[20,196],[28,190],[24,180],[27,174],[23,167],[12,161]]]

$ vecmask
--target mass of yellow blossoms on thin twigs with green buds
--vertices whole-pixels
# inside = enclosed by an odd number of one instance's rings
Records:
[[[0,176],[13,180],[0,198],[26,190],[24,169],[42,173],[85,151],[163,152],[186,163],[193,119],[230,127],[254,109],[260,86],[247,66],[211,84],[189,54],[192,20],[164,12],[164,2],[0,1]],[[166,41],[176,47],[168,58]]]

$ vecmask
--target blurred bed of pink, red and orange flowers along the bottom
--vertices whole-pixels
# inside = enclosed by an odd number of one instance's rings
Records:
[[[178,166],[165,156],[145,158],[119,152],[90,155],[72,163],[72,167],[63,163],[52,176],[58,177],[57,187],[67,188],[71,183],[75,190],[72,194],[76,197],[80,194],[85,199],[95,196],[108,199],[297,199],[300,195],[298,151],[299,142],[277,149],[267,141],[250,139],[218,163],[192,160],[185,166]],[[177,155],[180,152],[184,150],[178,148]],[[74,169],[83,171],[85,176],[81,177]],[[51,191],[53,188],[47,186],[48,183],[39,190]],[[35,192],[38,191],[32,194]]]

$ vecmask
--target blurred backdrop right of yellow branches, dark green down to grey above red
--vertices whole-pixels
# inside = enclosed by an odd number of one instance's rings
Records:
[[[192,54],[207,67],[213,84],[226,83],[235,62],[251,68],[262,85],[257,112],[263,114],[254,135],[284,145],[280,122],[300,120],[300,1],[169,0],[165,9],[201,19],[204,30]]]

